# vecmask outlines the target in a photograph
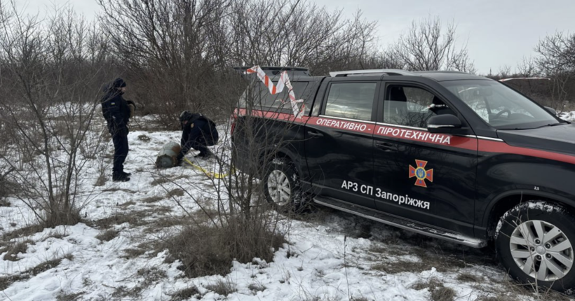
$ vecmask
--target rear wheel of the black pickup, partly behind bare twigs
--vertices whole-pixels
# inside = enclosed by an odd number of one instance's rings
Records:
[[[299,175],[295,166],[287,159],[271,160],[266,167],[263,181],[266,201],[278,211],[293,211],[302,199]],[[278,187],[279,184],[283,188]]]

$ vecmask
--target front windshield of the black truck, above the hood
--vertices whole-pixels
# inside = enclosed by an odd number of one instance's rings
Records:
[[[527,130],[561,124],[549,111],[495,80],[440,83],[496,129]]]

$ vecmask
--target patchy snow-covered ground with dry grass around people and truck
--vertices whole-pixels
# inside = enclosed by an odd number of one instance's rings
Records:
[[[225,276],[189,279],[177,269],[180,262],[165,260],[167,250],[149,247],[152,241],[177,231],[177,226],[166,226],[163,221],[184,216],[184,209],[198,209],[187,195],[178,193],[175,184],[158,179],[154,168],[161,146],[179,138],[180,132],[130,132],[126,168],[133,172],[132,180],[113,183],[108,175],[103,186],[96,186],[99,167],[95,160],[84,184],[86,191],[92,191],[81,211],[86,223],[8,237],[23,247],[15,254],[0,248],[0,300],[548,297],[537,297],[510,281],[490,251],[429,239],[329,209],[317,209],[289,221],[289,244],[275,252],[273,262],[257,258],[251,263],[233,262],[231,273]],[[107,155],[104,163],[111,167],[111,156]],[[163,172],[196,197],[203,195],[210,200],[215,192],[212,182],[192,167]],[[32,212],[22,202],[14,198],[8,201],[10,207],[0,207],[2,235],[34,224]],[[226,283],[231,293],[217,293],[217,283]],[[175,297],[186,290],[187,299]],[[546,300],[562,296],[550,297]]]

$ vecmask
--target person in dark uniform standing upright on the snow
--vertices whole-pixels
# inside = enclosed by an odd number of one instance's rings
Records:
[[[126,92],[126,82],[122,78],[116,78],[107,87],[106,94],[102,97],[102,114],[106,119],[108,132],[114,141],[112,180],[121,182],[130,181],[130,174],[124,172],[123,164],[128,156],[128,122],[132,110],[135,110],[134,103],[123,98],[124,92]]]

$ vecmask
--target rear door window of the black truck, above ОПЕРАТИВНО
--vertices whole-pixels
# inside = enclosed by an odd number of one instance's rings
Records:
[[[332,83],[325,116],[371,120],[377,83]]]

